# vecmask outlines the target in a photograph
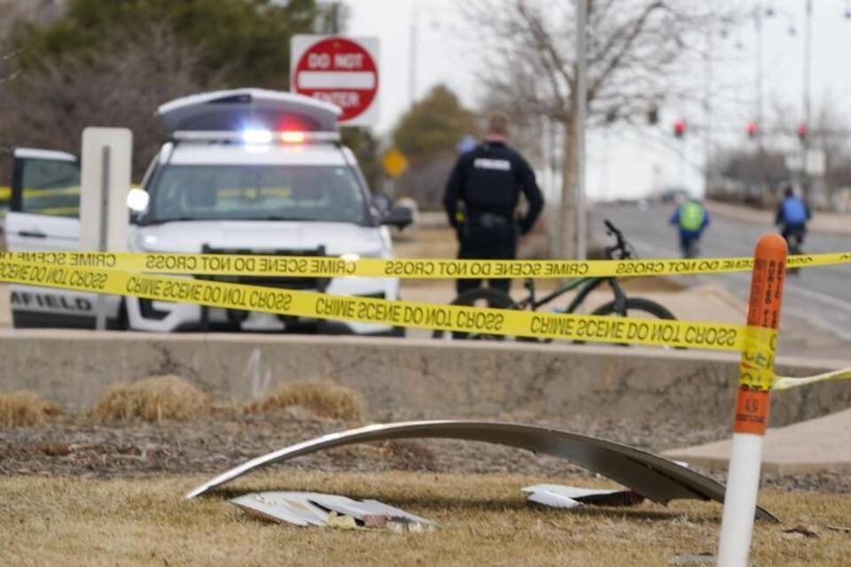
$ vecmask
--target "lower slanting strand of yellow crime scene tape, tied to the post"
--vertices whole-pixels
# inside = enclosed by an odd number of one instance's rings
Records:
[[[0,256],[0,281],[317,319],[465,333],[742,351],[768,346],[765,330],[711,322],[550,314],[335,296],[315,291],[38,264]]]

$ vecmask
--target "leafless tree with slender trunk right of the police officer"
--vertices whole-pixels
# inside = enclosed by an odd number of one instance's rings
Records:
[[[701,30],[721,18],[709,11],[708,4],[584,1],[588,7],[589,126],[646,120],[663,100],[694,93],[694,86],[680,77],[683,67],[700,60],[692,56],[705,55],[692,49],[702,45]],[[558,123],[565,133],[561,136],[563,206],[554,251],[564,257],[576,252],[574,7],[573,0],[479,0],[470,14],[488,53],[488,72],[482,77],[488,92],[520,113]]]

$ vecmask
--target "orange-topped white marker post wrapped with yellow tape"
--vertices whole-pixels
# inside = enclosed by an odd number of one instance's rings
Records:
[[[760,489],[762,440],[769,420],[777,328],[785,280],[786,242],[777,234],[760,238],[751,276],[747,324],[753,346],[742,353],[733,424],[733,443],[717,565],[746,567]]]

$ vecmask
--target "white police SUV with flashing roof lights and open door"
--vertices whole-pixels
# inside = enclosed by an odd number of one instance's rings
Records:
[[[144,175],[146,195],[131,191],[130,251],[393,257],[386,225],[410,224],[410,209],[371,199],[354,154],[340,144],[337,106],[236,89],[180,98],[158,113],[171,140]],[[74,156],[17,150],[5,219],[9,250],[77,250],[78,203]],[[222,279],[371,298],[399,294],[398,280],[389,278]],[[16,326],[91,328],[94,306],[91,294],[12,286]],[[108,309],[110,326],[131,330],[396,334],[386,325],[137,298],[110,298]]]

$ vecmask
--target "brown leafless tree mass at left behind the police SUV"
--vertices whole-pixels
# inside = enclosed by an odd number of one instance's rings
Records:
[[[0,88],[0,146],[78,152],[83,128],[126,127],[138,177],[162,142],[157,106],[200,89],[199,58],[199,48],[157,24],[113,38],[95,60],[50,59],[14,70],[14,81]]]

